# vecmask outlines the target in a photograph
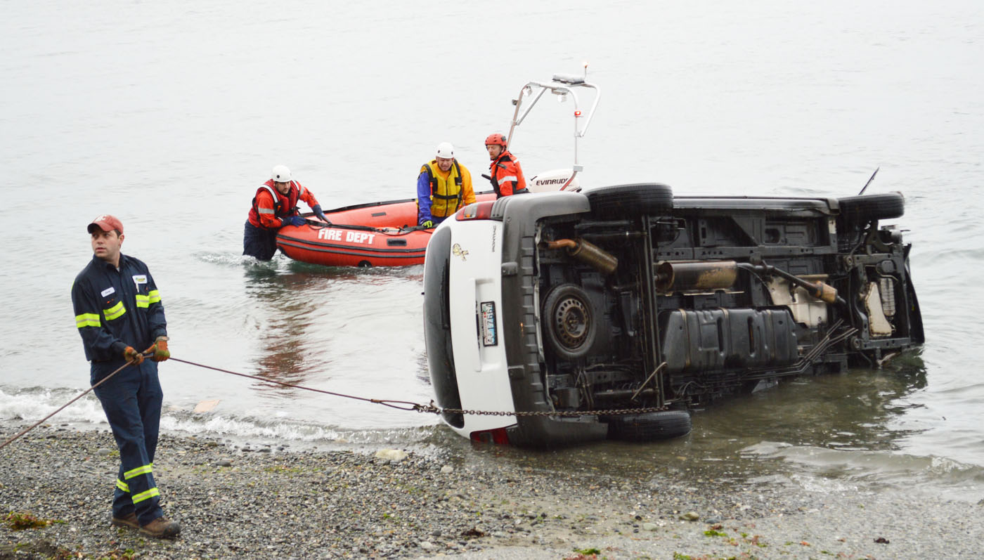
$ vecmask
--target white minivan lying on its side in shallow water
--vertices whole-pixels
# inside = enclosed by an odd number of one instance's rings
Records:
[[[689,410],[923,342],[900,194],[502,198],[435,230],[427,358],[444,421],[554,447],[690,431]]]

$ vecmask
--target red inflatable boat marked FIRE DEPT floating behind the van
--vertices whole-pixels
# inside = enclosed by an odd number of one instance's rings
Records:
[[[476,193],[475,200],[495,200],[495,193]],[[302,216],[308,218],[306,224],[280,228],[277,247],[295,261],[328,267],[421,265],[433,231],[416,225],[416,199],[326,211],[331,224]]]

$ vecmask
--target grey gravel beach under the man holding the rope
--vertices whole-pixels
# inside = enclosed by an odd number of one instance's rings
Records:
[[[3,429],[5,441],[17,426]],[[109,524],[107,431],[46,425],[0,450],[6,558],[969,558],[984,506],[768,484],[456,466],[396,449],[284,451],[161,434],[157,540]]]

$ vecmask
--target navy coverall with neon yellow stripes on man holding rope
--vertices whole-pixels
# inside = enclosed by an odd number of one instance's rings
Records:
[[[120,255],[116,269],[95,256],[72,284],[75,323],[86,359],[92,362],[90,384],[126,363],[127,346],[143,351],[167,336],[164,306],[154,278],[142,261]],[[120,452],[113,495],[113,517],[136,512],[144,526],[163,515],[154,483],[154,451],[163,394],[157,363],[145,359],[95,388]]]

